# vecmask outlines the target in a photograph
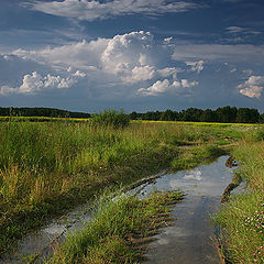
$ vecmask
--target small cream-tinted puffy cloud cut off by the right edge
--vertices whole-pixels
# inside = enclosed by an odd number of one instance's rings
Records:
[[[246,97],[260,98],[264,89],[264,77],[251,76],[246,81],[239,85],[238,88],[240,89],[240,94]]]

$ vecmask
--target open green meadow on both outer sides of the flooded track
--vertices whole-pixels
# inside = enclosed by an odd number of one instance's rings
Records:
[[[241,163],[239,174],[250,191],[231,199],[215,221],[223,227],[223,244],[233,263],[263,263],[263,127],[249,124],[0,122],[0,254],[29,230],[92,200],[106,187],[231,153]],[[119,242],[117,238],[117,246]]]

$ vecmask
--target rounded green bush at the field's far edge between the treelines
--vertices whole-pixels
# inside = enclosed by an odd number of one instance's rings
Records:
[[[92,125],[112,127],[114,129],[125,128],[129,122],[129,116],[123,110],[105,110],[99,114],[95,114],[91,119]]]

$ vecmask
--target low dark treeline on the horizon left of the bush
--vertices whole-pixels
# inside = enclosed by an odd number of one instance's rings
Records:
[[[89,113],[55,108],[0,108],[1,117],[90,118]]]

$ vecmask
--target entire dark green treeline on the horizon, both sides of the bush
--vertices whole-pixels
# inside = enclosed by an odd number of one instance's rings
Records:
[[[55,108],[0,108],[1,117],[90,118],[90,113],[72,112]],[[264,123],[264,113],[254,108],[222,107],[216,110],[188,108],[182,111],[131,112],[131,120],[193,121],[220,123]]]

